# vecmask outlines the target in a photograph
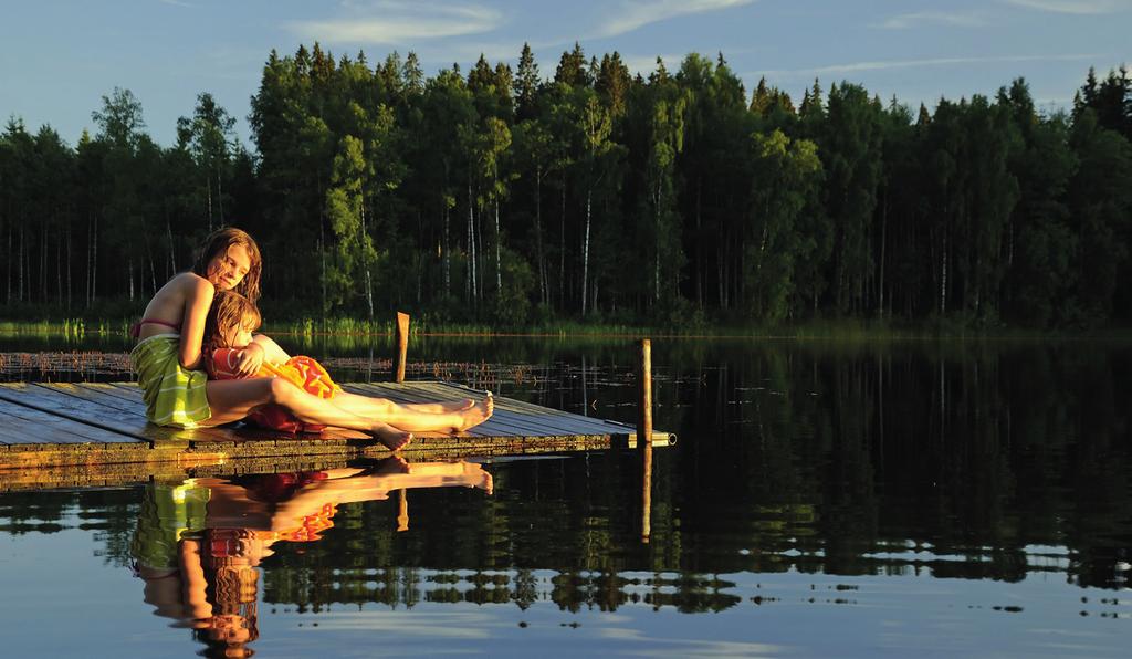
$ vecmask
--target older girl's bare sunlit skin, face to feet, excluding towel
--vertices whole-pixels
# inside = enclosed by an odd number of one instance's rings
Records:
[[[213,298],[217,290],[239,286],[251,266],[251,258],[245,247],[229,246],[208,260],[206,276],[178,274],[157,291],[146,307],[143,318],[180,326],[178,356],[182,367],[195,370],[203,368],[205,318]],[[144,324],[140,339],[171,332],[162,325]],[[259,370],[264,359],[283,362],[289,357],[269,337],[257,334],[245,344],[234,370],[240,376],[250,376]],[[409,444],[415,431],[458,433],[482,423],[495,411],[490,394],[471,406],[468,406],[466,401],[457,401],[445,403],[440,409],[426,410],[354,394],[327,401],[280,378],[213,380],[207,384],[206,396],[212,418],[203,423],[205,426],[239,421],[260,405],[277,404],[306,423],[367,433],[392,451]]]

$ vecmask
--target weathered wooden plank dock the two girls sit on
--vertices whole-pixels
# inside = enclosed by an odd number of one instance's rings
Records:
[[[438,382],[351,384],[345,388],[397,402],[453,400],[478,393]],[[417,435],[403,451],[406,456],[524,455],[636,445],[632,426],[505,397],[496,399],[491,419],[471,430]],[[669,433],[652,434],[653,445],[672,440]],[[50,487],[52,482],[57,487],[85,485],[79,481],[110,483],[128,479],[114,474],[136,478],[188,465],[226,463],[228,471],[276,471],[386,453],[366,435],[342,429],[290,437],[239,425],[158,428],[146,422],[142,393],[131,383],[0,384],[0,490],[36,483]],[[35,471],[29,472],[29,468]],[[60,478],[42,478],[46,472],[58,472]],[[89,477],[79,476],[84,472]]]

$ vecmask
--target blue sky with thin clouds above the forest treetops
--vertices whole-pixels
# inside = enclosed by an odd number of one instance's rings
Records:
[[[993,94],[1018,76],[1039,106],[1067,106],[1089,67],[1132,65],[1132,0],[5,0],[0,120],[54,127],[69,144],[117,87],[171,145],[177,118],[211,92],[246,117],[271,49],[318,41],[377,62],[418,53],[431,76],[479,54],[514,63],[523,42],[543,77],[564,50],[618,51],[648,74],[722,51],[748,93],[765,76],[800,97],[813,83],[860,83],[929,108]]]

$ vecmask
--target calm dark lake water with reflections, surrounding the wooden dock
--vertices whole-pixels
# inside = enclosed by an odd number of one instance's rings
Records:
[[[384,337],[280,342],[387,377]],[[0,377],[126,345],[0,339]],[[12,356],[58,350],[98,353]],[[634,419],[627,339],[410,358]],[[1127,656],[1132,345],[654,340],[653,374],[649,542],[632,452],[0,494],[3,653]]]

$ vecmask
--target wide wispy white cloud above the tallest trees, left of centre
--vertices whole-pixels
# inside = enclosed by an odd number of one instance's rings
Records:
[[[323,43],[402,44],[464,36],[503,25],[503,14],[478,5],[344,2],[346,16],[286,25],[303,38]]]

